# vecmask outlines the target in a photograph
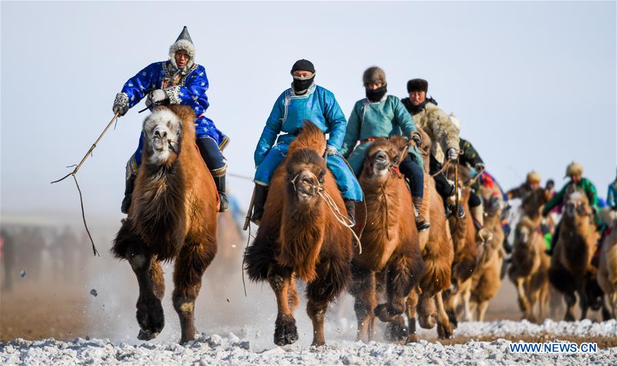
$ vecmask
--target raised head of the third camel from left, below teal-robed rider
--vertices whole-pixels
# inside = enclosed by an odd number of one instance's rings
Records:
[[[366,150],[362,175],[373,180],[387,180],[391,169],[398,169],[405,158],[409,145],[409,141],[401,136],[377,138]]]

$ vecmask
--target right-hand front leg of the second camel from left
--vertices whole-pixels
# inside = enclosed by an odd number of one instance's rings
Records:
[[[313,323],[312,345],[325,345],[323,323],[330,302],[334,301],[351,280],[351,266],[343,258],[324,258],[317,267],[317,277],[307,284],[306,313]]]

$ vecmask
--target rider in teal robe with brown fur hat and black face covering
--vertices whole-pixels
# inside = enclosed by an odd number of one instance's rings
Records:
[[[378,137],[404,134],[409,136],[415,146],[409,147],[409,153],[399,164],[401,173],[410,182],[411,196],[416,210],[418,231],[430,228],[430,223],[421,216],[422,197],[424,193],[424,169],[418,154],[421,137],[410,114],[400,99],[386,95],[386,73],[377,66],[369,67],[362,76],[366,98],[356,101],[353,106],[345,140],[340,150],[342,156],[349,159],[349,165],[357,176],[362,171],[362,162],[371,141]],[[360,145],[356,144],[360,141]]]

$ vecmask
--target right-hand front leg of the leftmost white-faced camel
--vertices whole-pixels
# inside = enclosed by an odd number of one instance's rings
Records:
[[[195,339],[195,301],[201,278],[216,254],[216,245],[208,244],[185,243],[174,264],[172,302],[180,317],[181,343]]]

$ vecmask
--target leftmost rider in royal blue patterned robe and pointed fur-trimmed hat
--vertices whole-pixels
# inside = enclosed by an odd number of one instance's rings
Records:
[[[220,132],[214,122],[204,113],[210,103],[206,95],[208,78],[204,66],[195,63],[195,47],[187,27],[184,27],[176,42],[170,47],[170,59],[154,62],[131,77],[116,95],[113,112],[124,116],[129,108],[146,97],[146,106],[152,108],[161,103],[182,104],[190,106],[195,119],[196,143],[199,152],[216,184],[220,196],[220,211],[229,209],[225,194],[226,160],[222,150],[229,143],[229,138]],[[137,169],[141,164],[141,147],[143,133],[139,137],[139,146],[126,164],[126,189],[121,211],[128,213],[131,194],[135,186]]]

